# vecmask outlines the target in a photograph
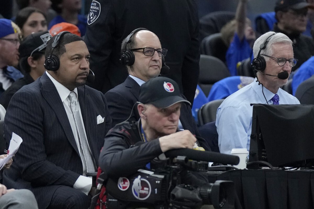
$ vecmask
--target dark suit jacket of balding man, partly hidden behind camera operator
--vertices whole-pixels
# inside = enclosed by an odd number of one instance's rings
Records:
[[[138,101],[139,87],[140,86],[133,78],[127,76],[127,79],[122,84],[114,87],[110,91],[107,91],[105,97],[108,102],[108,109],[112,118],[112,127],[117,123],[127,120],[130,115],[131,116],[128,119],[129,122],[138,121],[140,117],[137,111],[137,105],[134,104]],[[133,111],[131,114],[132,108]],[[209,148],[207,143],[204,142],[205,140],[201,138],[201,135],[198,132],[196,122],[192,116],[191,107],[185,102],[181,102],[180,121],[183,128],[189,130],[192,134],[197,136],[199,143],[204,147],[204,149],[208,150]]]

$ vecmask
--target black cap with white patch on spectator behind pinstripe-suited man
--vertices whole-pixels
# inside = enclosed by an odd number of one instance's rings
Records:
[[[27,36],[19,46],[19,57],[29,57],[39,51],[45,53],[47,42],[51,38],[49,31],[41,31]]]

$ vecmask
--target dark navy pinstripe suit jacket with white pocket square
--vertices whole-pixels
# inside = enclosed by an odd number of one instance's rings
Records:
[[[87,137],[96,166],[111,118],[104,95],[88,86],[78,87]],[[85,105],[86,104],[86,105]],[[105,117],[97,124],[96,117]],[[12,132],[23,142],[3,183],[8,188],[33,191],[39,208],[46,208],[60,185],[72,187],[83,173],[78,147],[60,96],[50,78],[43,74],[23,86],[11,99],[4,121],[4,137],[9,143]]]

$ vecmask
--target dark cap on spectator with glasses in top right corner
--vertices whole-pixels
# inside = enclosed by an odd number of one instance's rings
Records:
[[[314,5],[305,0],[279,0],[276,2],[275,12],[286,9],[299,10],[303,8],[314,8]]]

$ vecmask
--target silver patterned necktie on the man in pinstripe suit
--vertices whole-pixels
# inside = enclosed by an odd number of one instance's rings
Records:
[[[75,92],[70,92],[68,98],[70,99],[70,107],[73,113],[74,122],[76,126],[76,130],[78,132],[79,146],[81,149],[81,158],[83,163],[85,162],[87,172],[95,172],[95,167],[93,164],[92,154],[90,153],[89,146],[87,143],[87,138],[84,134],[84,127],[81,122],[81,118],[78,112],[78,104]]]

